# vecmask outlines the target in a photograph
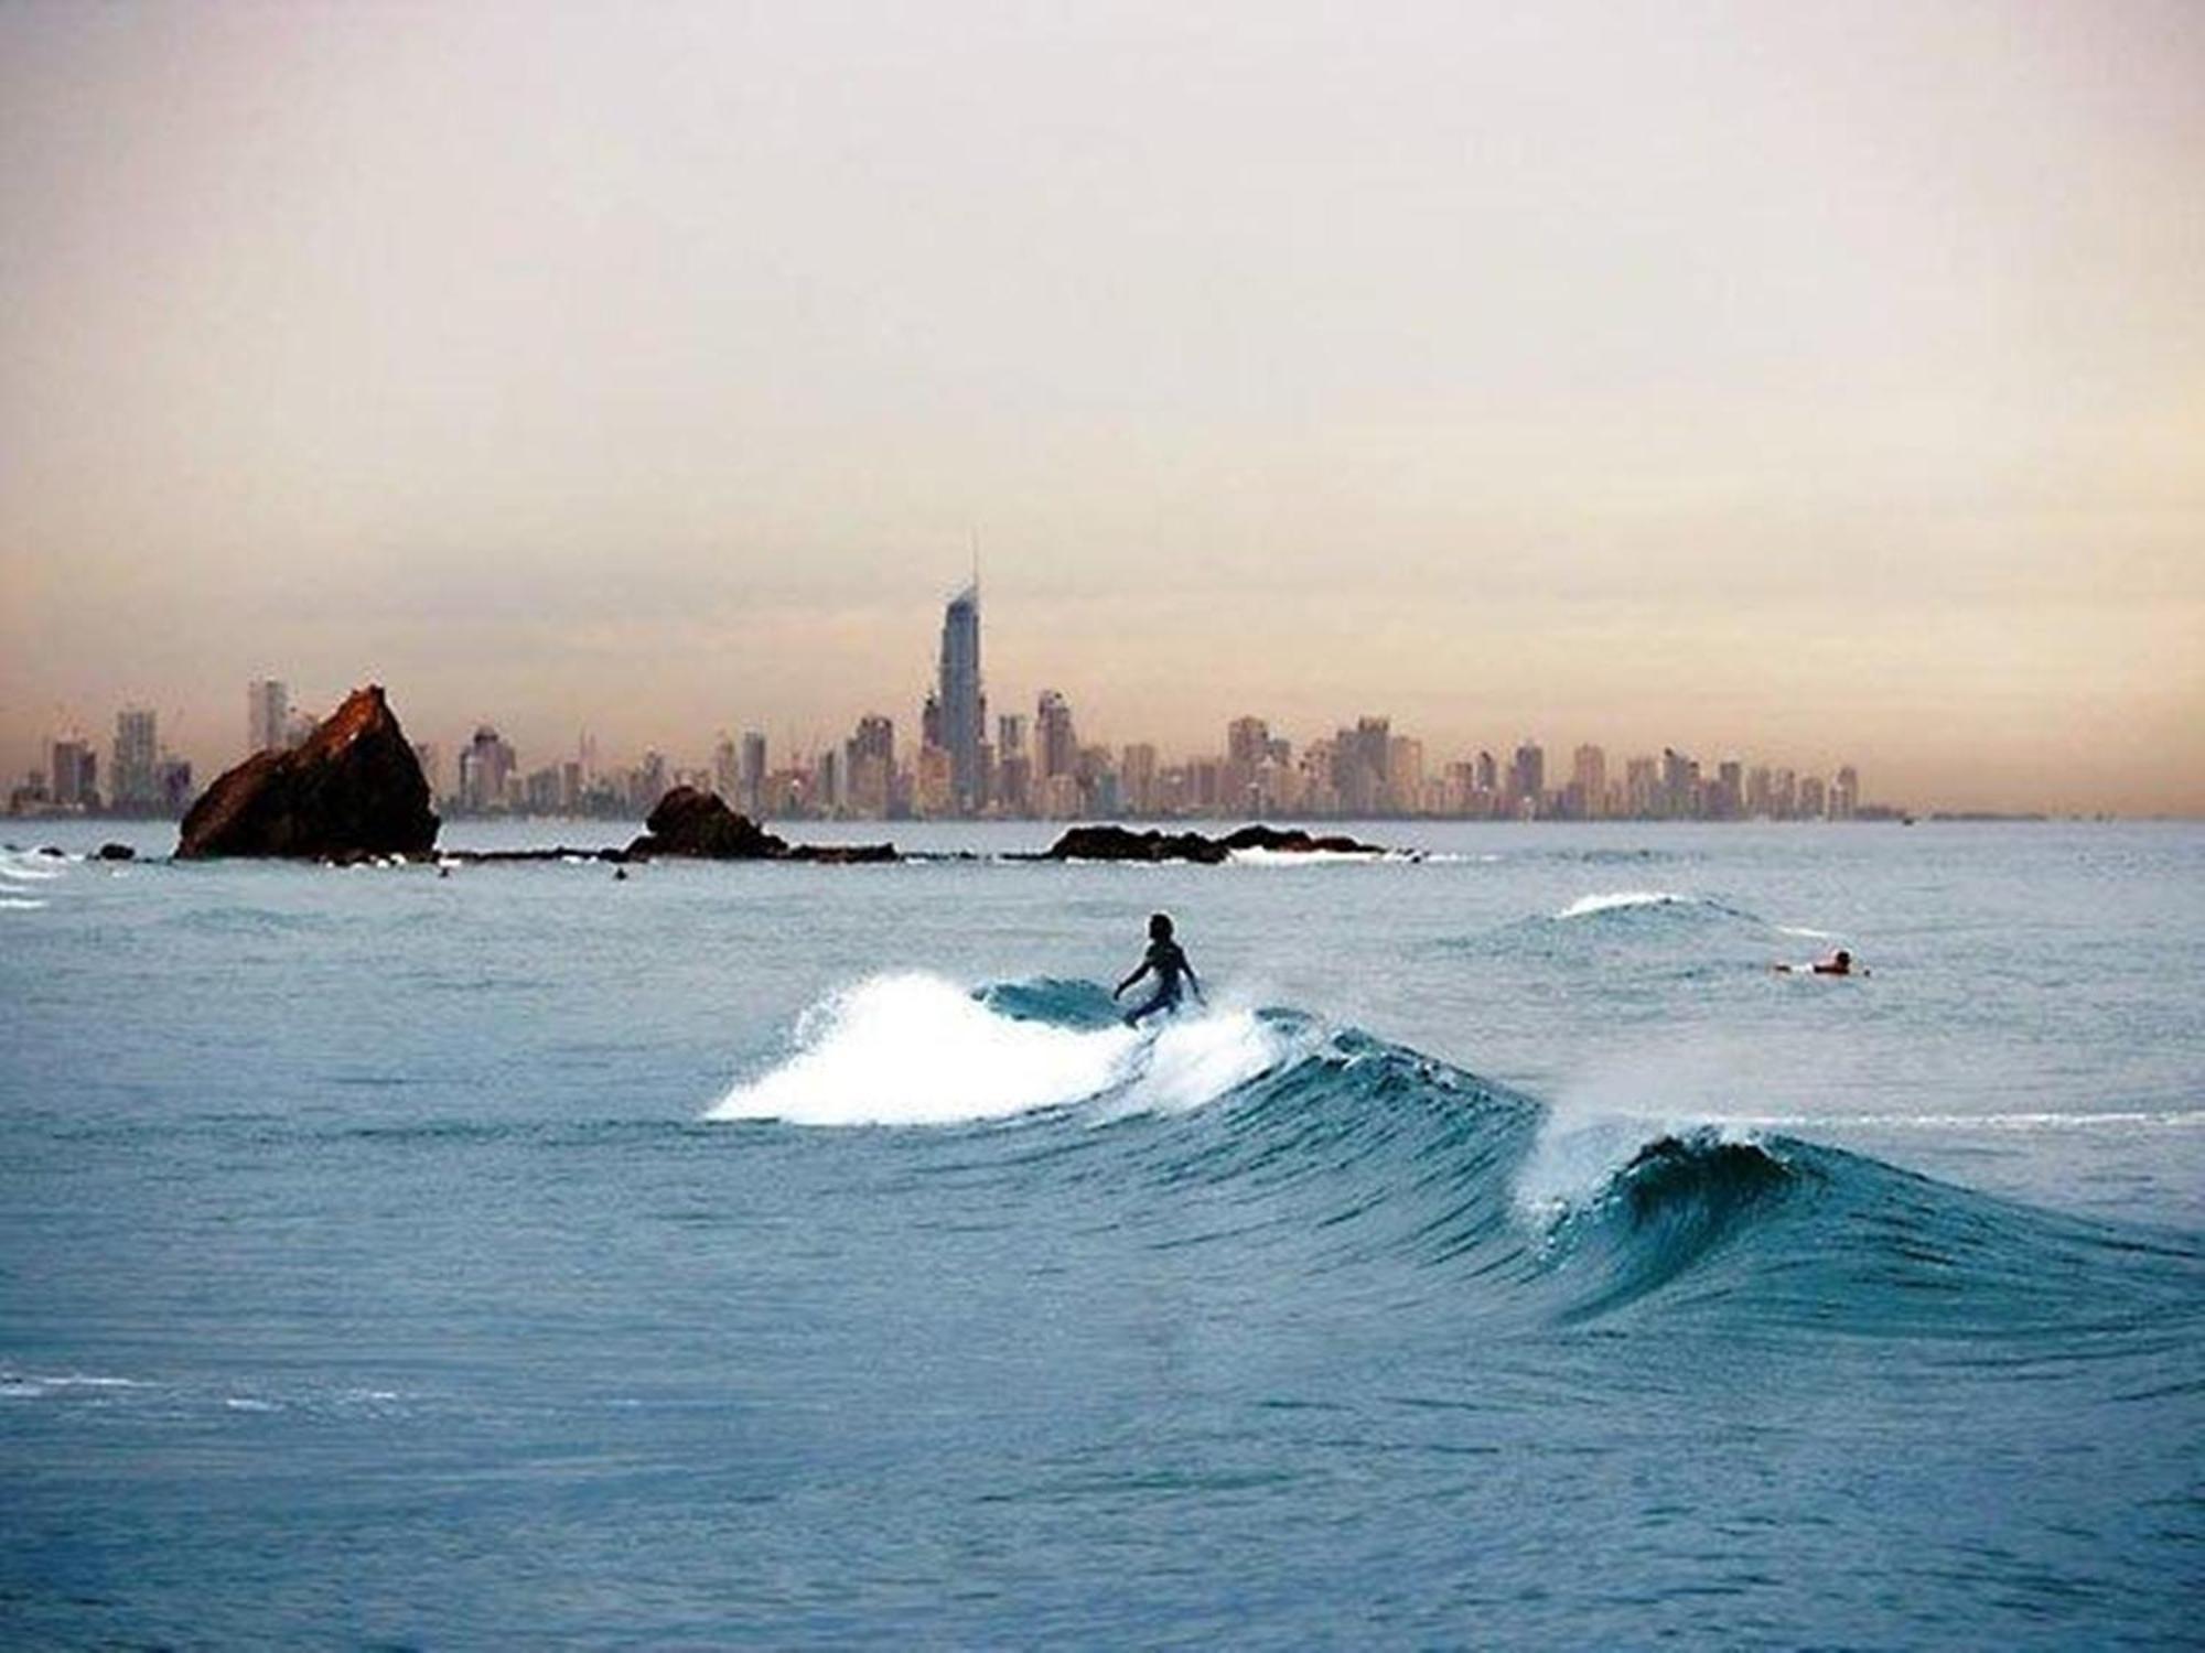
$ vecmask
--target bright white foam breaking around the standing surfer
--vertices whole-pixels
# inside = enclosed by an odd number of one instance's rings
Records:
[[[966,1124],[1107,1100],[1122,1113],[1202,1106],[1283,1060],[1255,1012],[1164,1025],[1054,1027],[997,1014],[922,972],[869,976],[807,1009],[796,1051],[706,1117],[787,1124]]]

